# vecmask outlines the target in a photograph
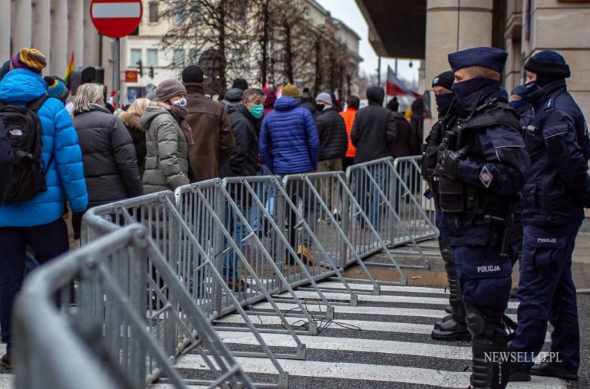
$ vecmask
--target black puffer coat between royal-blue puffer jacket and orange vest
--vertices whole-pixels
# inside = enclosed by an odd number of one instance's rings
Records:
[[[346,124],[335,107],[326,107],[316,116],[319,135],[318,160],[344,158],[348,148]]]

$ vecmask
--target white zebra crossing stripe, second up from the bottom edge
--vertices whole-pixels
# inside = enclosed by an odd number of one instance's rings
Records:
[[[224,343],[258,345],[253,334],[217,331]],[[285,334],[260,334],[269,346],[292,347],[293,339]],[[326,349],[351,352],[372,352],[434,358],[471,360],[471,347],[432,345],[427,343],[397,342],[392,340],[332,338],[328,336],[299,336],[307,349]]]

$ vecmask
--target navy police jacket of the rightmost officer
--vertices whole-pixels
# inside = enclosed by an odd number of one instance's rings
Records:
[[[590,207],[590,139],[584,114],[556,80],[532,92],[534,118],[525,132],[531,168],[523,195],[523,225],[566,225]]]

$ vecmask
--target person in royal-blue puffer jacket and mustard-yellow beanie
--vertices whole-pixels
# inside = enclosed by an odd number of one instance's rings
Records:
[[[273,174],[285,176],[288,174],[310,173],[317,170],[319,153],[319,136],[314,118],[310,111],[301,107],[299,91],[295,85],[287,84],[283,87],[283,96],[274,103],[274,110],[264,116],[260,129],[260,155],[264,158]],[[298,199],[303,202],[303,217],[313,230],[317,207],[314,199],[304,185],[287,182],[287,193],[294,204]],[[287,230],[289,242],[305,263],[312,263],[312,240],[303,229],[301,239],[297,236],[297,218],[294,212],[287,214]],[[287,251],[287,263],[294,265],[295,260]]]

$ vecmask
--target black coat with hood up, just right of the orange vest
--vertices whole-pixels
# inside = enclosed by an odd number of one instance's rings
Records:
[[[391,111],[382,107],[384,97],[382,88],[369,87],[369,105],[357,111],[351,130],[351,140],[357,148],[355,164],[389,157],[389,144],[396,140],[396,125]]]

